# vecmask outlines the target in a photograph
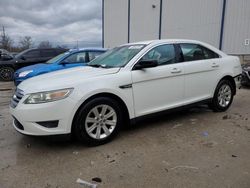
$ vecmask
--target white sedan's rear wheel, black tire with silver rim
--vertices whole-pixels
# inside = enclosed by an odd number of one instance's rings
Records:
[[[226,111],[233,102],[233,84],[229,80],[221,80],[217,85],[209,107],[215,112]]]

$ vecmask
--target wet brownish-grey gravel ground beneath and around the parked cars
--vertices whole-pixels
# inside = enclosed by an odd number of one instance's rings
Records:
[[[113,142],[87,147],[19,134],[8,110],[14,91],[0,82],[0,188],[250,187],[250,89],[231,108],[205,106],[139,122]]]

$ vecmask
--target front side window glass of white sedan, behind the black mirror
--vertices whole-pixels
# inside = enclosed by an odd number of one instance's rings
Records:
[[[161,45],[150,50],[143,60],[157,60],[159,65],[176,63],[175,48],[172,44]]]

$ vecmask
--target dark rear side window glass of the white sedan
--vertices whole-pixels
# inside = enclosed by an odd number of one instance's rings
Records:
[[[198,44],[180,44],[184,61],[219,58],[219,55]]]

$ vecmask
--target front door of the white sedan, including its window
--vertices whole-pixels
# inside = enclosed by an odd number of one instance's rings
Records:
[[[157,60],[158,66],[132,70],[136,116],[181,106],[184,94],[183,65],[173,44],[157,46],[143,60]]]

